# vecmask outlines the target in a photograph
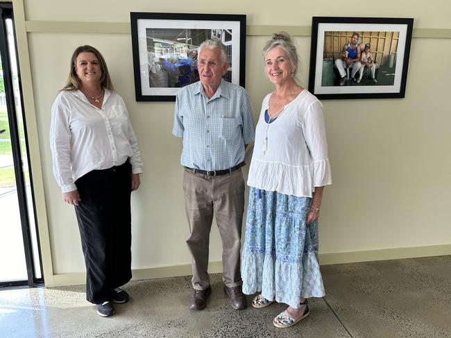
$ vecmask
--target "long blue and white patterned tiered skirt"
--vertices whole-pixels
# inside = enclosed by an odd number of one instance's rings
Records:
[[[318,222],[305,224],[310,197],[250,187],[241,255],[243,292],[299,308],[300,297],[324,296]]]

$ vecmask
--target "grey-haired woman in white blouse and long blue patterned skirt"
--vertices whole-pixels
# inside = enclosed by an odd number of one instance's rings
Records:
[[[318,217],[323,186],[332,183],[322,105],[295,76],[296,47],[277,33],[263,48],[275,90],[262,103],[250,163],[243,292],[254,308],[289,307],[274,318],[287,328],[309,315],[307,298],[324,296],[318,265]]]

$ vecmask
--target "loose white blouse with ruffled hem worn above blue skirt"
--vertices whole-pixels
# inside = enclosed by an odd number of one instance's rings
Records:
[[[332,184],[323,106],[304,89],[275,121],[266,123],[270,96],[263,100],[255,130],[248,186],[312,197],[316,186]]]

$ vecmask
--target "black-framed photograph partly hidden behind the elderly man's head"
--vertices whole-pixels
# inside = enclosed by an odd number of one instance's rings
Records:
[[[224,80],[244,87],[246,15],[130,12],[137,101],[175,101],[198,81],[197,49],[219,39],[230,64]]]

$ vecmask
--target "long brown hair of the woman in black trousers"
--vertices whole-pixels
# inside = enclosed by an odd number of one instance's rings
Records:
[[[100,78],[101,87],[106,88],[110,91],[114,91],[114,87],[111,82],[110,73],[108,73],[108,67],[106,66],[105,59],[103,58],[101,53],[97,51],[96,48],[89,45],[77,47],[74,53],[72,54],[69,77],[67,78],[65,87],[62,87],[61,91],[76,91],[81,88],[81,80],[78,78],[76,73],[77,56],[80,53],[93,53],[94,55],[96,55],[97,60],[99,60],[100,69],[102,71],[102,75]]]

